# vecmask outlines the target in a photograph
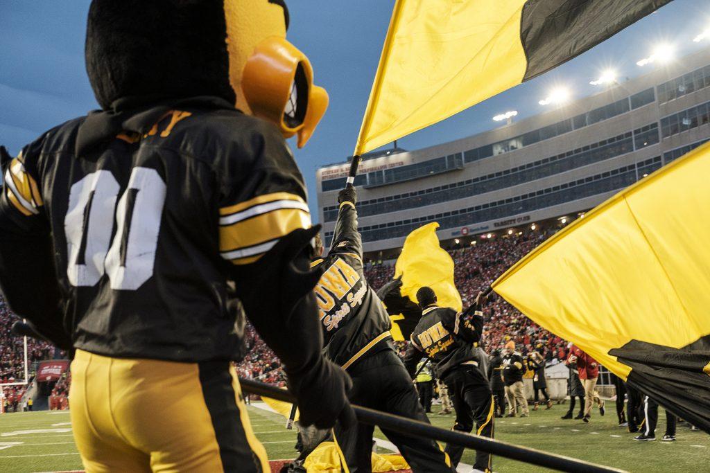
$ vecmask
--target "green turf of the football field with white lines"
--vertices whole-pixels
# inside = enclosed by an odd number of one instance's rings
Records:
[[[613,409],[613,406],[609,406]],[[550,411],[532,412],[530,418],[496,419],[496,437],[562,455],[628,469],[631,472],[706,472],[710,464],[710,437],[692,432],[687,425],[678,426],[678,440],[664,443],[634,442],[633,435],[616,426],[613,412],[606,417],[595,413],[589,424],[562,421],[566,406]],[[661,410],[662,411],[662,410]],[[293,458],[295,433],[285,430],[278,414],[250,406],[249,414],[256,436],[272,460]],[[661,412],[657,435],[663,434],[665,416]],[[453,416],[432,414],[432,423],[451,428]],[[77,449],[72,441],[69,413],[62,411],[9,413],[0,415],[0,472],[54,472],[81,469]],[[49,432],[38,430],[50,429]],[[26,430],[28,432],[21,432]],[[376,434],[383,438],[381,433]],[[612,436],[614,435],[614,436]],[[17,444],[12,444],[17,443]],[[466,452],[463,462],[471,464],[473,453]],[[502,458],[493,460],[495,472],[536,472],[529,465]]]

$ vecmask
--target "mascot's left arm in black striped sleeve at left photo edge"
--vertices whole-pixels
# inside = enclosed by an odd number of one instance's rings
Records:
[[[15,159],[0,150],[5,184],[0,196],[0,290],[13,312],[68,350],[72,343],[62,323],[53,244],[33,145]]]

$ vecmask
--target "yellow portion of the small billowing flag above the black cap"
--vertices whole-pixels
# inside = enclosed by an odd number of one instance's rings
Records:
[[[436,222],[417,228],[407,236],[395,265],[395,278],[402,277],[403,296],[417,301],[417,290],[429,286],[437,294],[438,305],[461,311],[461,296],[454,284],[454,260],[439,246]]]

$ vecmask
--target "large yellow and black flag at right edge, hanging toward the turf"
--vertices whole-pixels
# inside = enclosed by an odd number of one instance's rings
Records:
[[[710,433],[710,143],[542,243],[493,290]]]

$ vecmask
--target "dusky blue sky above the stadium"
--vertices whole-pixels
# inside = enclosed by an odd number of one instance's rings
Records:
[[[470,0],[474,1],[474,0]],[[98,108],[84,68],[84,35],[89,0],[0,1],[0,144],[16,154],[43,131]],[[380,57],[394,0],[287,0],[288,39],[310,58],[315,82],[330,95],[330,106],[315,135],[295,157],[306,179],[317,219],[315,171],[351,155]],[[589,96],[603,69],[619,77],[648,72],[636,62],[657,43],[687,55],[710,45],[693,38],[710,28],[710,2],[674,0],[613,38],[530,82],[498,94],[435,126],[401,140],[415,150],[495,128],[491,117],[515,109],[516,119],[545,111],[537,104],[547,91],[568,87],[573,97]]]

